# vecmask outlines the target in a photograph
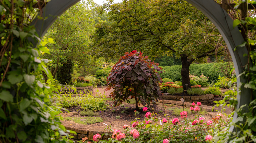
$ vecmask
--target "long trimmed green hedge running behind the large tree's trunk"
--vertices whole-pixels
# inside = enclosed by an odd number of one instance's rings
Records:
[[[204,74],[209,77],[209,81],[217,81],[220,76],[225,74],[219,69],[220,65],[225,66],[227,63],[207,63],[207,64],[191,64],[189,67],[190,73],[197,75]],[[232,66],[232,65],[231,65]],[[232,66],[233,67],[233,66]],[[230,69],[232,69],[232,67]],[[161,78],[170,78],[173,81],[181,81],[181,65],[162,67],[163,73],[159,73]]]

